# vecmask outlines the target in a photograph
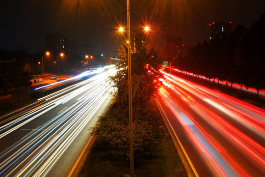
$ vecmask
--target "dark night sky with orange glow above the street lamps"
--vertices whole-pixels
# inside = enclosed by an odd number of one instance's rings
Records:
[[[184,45],[209,38],[209,24],[232,22],[250,28],[265,13],[265,0],[131,0],[131,30],[151,25],[151,40],[160,47],[165,35]],[[0,49],[44,52],[47,33],[59,32],[88,43],[95,55],[115,55],[125,35],[127,0],[4,0],[0,3]]]

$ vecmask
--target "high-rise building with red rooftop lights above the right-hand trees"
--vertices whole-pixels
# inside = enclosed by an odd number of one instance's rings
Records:
[[[232,22],[223,23],[223,22],[212,22],[210,26],[210,40],[214,39],[217,35],[222,37],[228,37],[231,33],[231,24]]]

